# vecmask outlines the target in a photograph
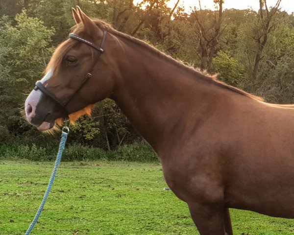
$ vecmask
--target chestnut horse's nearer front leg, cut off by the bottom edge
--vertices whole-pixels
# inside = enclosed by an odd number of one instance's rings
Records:
[[[200,235],[226,235],[223,205],[188,203],[188,206]]]

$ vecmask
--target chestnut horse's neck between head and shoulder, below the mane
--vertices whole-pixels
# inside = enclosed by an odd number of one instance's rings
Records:
[[[124,58],[117,61],[122,75],[112,98],[143,138],[159,151],[167,141],[172,144],[171,137],[177,135],[182,123],[201,115],[200,110],[211,101],[207,84],[178,62],[135,42],[122,41]]]

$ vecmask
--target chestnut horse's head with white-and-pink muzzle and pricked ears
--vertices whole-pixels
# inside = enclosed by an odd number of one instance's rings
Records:
[[[93,104],[115,89],[114,38],[107,34],[111,26],[91,20],[79,7],[72,10],[76,24],[69,39],[55,49],[45,76],[25,101],[26,119],[41,131],[68,116],[73,122],[90,115]]]

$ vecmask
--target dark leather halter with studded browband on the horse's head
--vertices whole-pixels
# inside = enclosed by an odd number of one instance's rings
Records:
[[[97,49],[98,51],[100,51],[101,53],[104,53],[104,42],[105,42],[105,38],[106,38],[106,31],[103,32],[103,37],[102,37],[102,41],[101,41],[101,45],[100,47],[96,46],[94,43],[81,38],[80,36],[70,33],[69,34],[70,38],[73,38],[75,40],[78,40],[82,43],[85,43],[95,49]],[[99,56],[97,57],[97,60],[95,61],[95,63],[93,64],[91,70],[87,73],[87,75],[85,76],[83,83],[81,84],[81,86],[77,89],[77,91],[75,93],[73,93],[73,95],[69,98],[69,100],[67,102],[62,102],[61,100],[59,100],[54,94],[52,94],[51,92],[49,92],[42,84],[41,81],[37,81],[36,82],[36,86],[34,87],[34,90],[40,90],[43,94],[45,94],[47,97],[49,97],[55,104],[57,104],[60,108],[62,108],[63,112],[67,115],[67,118],[69,116],[69,113],[67,112],[66,109],[66,105],[70,102],[70,100],[73,98],[73,96],[85,85],[85,83],[89,80],[89,78],[91,78],[92,76],[92,71],[94,69],[94,66],[96,65],[97,61],[98,61]]]

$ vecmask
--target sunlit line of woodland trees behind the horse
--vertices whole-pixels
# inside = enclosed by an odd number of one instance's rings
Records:
[[[55,137],[32,128],[21,111],[54,47],[67,38],[75,5],[268,102],[294,103],[294,15],[280,9],[281,0],[272,7],[256,1],[258,12],[223,10],[222,0],[214,0],[216,10],[188,14],[179,0],[172,7],[166,0],[1,0],[0,142],[55,144]],[[99,103],[71,131],[72,144],[106,150],[142,141],[111,100]]]

